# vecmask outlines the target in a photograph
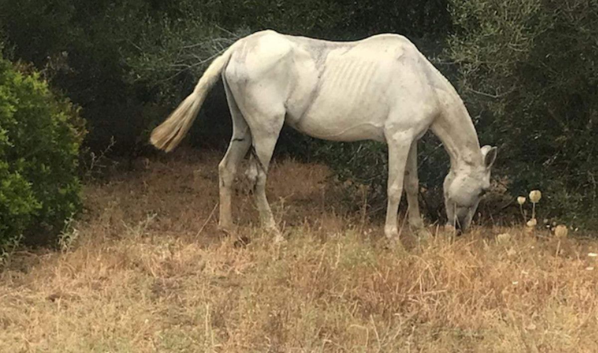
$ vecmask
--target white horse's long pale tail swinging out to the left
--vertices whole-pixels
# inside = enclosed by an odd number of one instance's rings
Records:
[[[228,64],[228,60],[233,53],[233,47],[234,44],[210,63],[202,78],[197,82],[193,93],[181,102],[166,121],[154,128],[149,139],[152,145],[170,152],[181,142],[187,131],[189,131],[191,124],[193,124],[197,112],[202,108],[203,101],[206,99],[210,88],[218,81],[218,76]]]

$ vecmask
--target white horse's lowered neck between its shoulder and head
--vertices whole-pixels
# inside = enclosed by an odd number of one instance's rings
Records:
[[[442,112],[431,129],[450,156],[451,170],[480,165],[482,155],[474,123],[456,92],[444,94]]]

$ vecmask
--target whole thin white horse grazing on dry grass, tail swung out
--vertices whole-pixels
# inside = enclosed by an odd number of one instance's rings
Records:
[[[172,151],[185,136],[210,88],[222,76],[233,135],[218,165],[219,226],[233,227],[231,184],[252,148],[255,202],[264,228],[280,240],[266,198],[266,176],[283,124],[319,139],[376,140],[388,145],[385,235],[398,239],[403,188],[408,220],[422,228],[417,202],[417,140],[431,128],[450,156],[444,180],[449,224],[468,228],[490,187],[496,147],[480,148],[471,117],[450,82],[404,36],[382,34],[332,42],[264,30],[239,39],[210,63],[191,93],[151,143]]]

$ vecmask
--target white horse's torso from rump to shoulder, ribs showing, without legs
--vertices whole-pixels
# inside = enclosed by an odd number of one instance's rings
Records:
[[[236,98],[283,105],[288,124],[311,136],[383,140],[397,105],[435,102],[425,60],[401,35],[341,42],[266,30],[242,39],[225,75]]]

